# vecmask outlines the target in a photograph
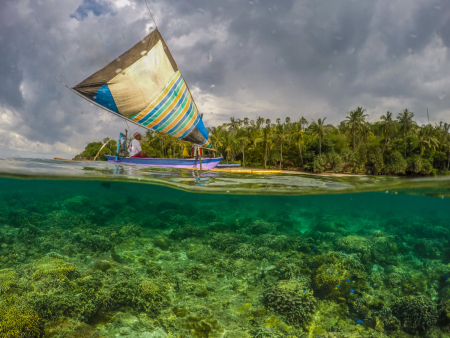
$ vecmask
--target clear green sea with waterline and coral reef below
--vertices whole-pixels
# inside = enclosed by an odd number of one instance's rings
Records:
[[[450,337],[450,179],[0,159],[2,337]]]

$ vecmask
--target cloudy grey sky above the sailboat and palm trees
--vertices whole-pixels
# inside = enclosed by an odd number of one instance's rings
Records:
[[[147,0],[206,126],[450,122],[447,0]],[[1,0],[0,157],[72,158],[127,125],[74,86],[154,29],[144,0]],[[131,127],[131,126],[130,126]],[[132,130],[134,128],[131,128]]]

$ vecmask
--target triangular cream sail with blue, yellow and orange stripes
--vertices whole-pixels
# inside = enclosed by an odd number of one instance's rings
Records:
[[[212,147],[186,82],[158,29],[73,89],[144,127]]]

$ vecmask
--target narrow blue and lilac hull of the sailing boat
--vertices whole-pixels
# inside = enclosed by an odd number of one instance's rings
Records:
[[[200,161],[194,158],[142,158],[142,157],[118,157],[105,155],[108,162],[137,164],[149,167],[170,167],[183,169],[200,169]],[[202,158],[202,169],[214,169],[222,160],[222,157]]]

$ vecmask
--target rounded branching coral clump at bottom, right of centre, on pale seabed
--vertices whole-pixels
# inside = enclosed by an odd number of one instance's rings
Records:
[[[284,315],[290,325],[306,324],[314,313],[316,299],[313,292],[299,281],[280,281],[265,295],[269,309]]]

